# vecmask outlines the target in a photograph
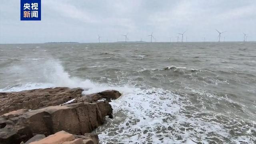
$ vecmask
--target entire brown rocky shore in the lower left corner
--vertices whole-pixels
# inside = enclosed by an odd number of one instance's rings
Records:
[[[116,90],[82,94],[82,88],[0,92],[0,144],[97,144],[90,134],[112,118]]]

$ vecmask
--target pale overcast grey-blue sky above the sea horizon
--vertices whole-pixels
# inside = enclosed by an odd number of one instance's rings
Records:
[[[256,0],[41,0],[41,21],[20,21],[20,0],[0,0],[0,43],[256,40]],[[181,36],[180,36],[181,39]]]

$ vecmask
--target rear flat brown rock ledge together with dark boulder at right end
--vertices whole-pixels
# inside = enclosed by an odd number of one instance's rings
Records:
[[[102,98],[117,99],[121,96],[116,90],[105,90],[95,94],[82,94],[82,88],[41,88],[34,90],[24,90],[20,92],[0,92],[0,115],[14,110],[27,109],[34,110],[46,106],[62,105],[70,100],[83,102],[96,102]]]

